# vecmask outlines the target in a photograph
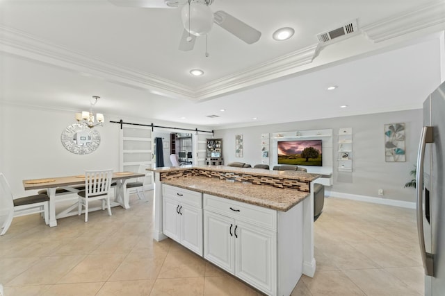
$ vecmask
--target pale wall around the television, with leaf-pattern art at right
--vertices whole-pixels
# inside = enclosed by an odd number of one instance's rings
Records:
[[[378,189],[383,189],[383,198],[414,202],[414,189],[403,188],[412,179],[410,171],[416,163],[421,131],[421,110],[345,116],[316,121],[296,121],[274,125],[259,125],[249,128],[216,130],[215,137],[223,138],[225,164],[245,162],[254,166],[261,164],[261,134],[293,130],[318,130],[332,128],[334,132],[334,155],[337,153],[339,128],[353,128],[353,172],[339,173],[334,159],[334,184],[328,191],[380,198]],[[385,162],[384,125],[406,124],[406,162]],[[235,135],[243,134],[244,157],[235,157]],[[270,151],[272,148],[270,148]],[[271,158],[270,158],[271,159]]]

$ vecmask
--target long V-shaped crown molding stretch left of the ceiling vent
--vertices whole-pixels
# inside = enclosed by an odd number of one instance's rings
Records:
[[[153,94],[179,96],[194,101],[295,73],[296,67],[312,62],[317,50],[318,44],[309,46],[193,89],[149,73],[119,67],[92,58],[80,51],[47,42],[24,31],[0,25],[0,51],[80,73],[104,77],[126,85],[142,87],[149,89]]]

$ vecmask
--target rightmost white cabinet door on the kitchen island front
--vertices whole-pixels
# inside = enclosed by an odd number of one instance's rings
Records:
[[[276,233],[236,221],[235,275],[270,294],[276,290]]]

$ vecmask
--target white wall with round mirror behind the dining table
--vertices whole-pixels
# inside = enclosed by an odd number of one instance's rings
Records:
[[[88,169],[113,168],[119,171],[120,125],[109,121],[119,121],[120,118],[110,118],[104,114],[104,126],[96,127],[101,134],[99,148],[88,155],[75,155],[66,150],[60,141],[62,131],[67,125],[75,123],[74,112],[0,102],[0,115],[0,172],[8,179],[15,198],[36,192],[24,191],[22,180],[25,179],[79,175]],[[145,122],[141,119],[122,119],[143,124],[153,122],[151,119]],[[154,125],[192,128],[168,122],[154,122]],[[209,129],[202,126],[193,128]],[[165,141],[168,141],[168,137],[165,137]],[[170,154],[169,150],[166,154]]]

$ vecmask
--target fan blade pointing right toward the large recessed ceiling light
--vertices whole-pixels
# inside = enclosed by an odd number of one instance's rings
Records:
[[[217,25],[229,31],[247,44],[255,43],[259,40],[259,37],[261,37],[260,31],[252,28],[248,24],[245,24],[236,17],[229,15],[223,10],[218,10],[213,14],[213,16],[213,20]]]

